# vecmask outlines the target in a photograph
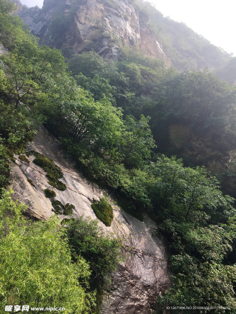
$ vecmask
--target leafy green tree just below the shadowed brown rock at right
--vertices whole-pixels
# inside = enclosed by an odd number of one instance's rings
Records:
[[[196,223],[198,211],[213,214],[217,208],[224,208],[226,214],[232,210],[233,198],[223,196],[219,182],[205,167],[184,168],[181,160],[161,155],[148,169],[156,177],[153,200],[181,219]]]

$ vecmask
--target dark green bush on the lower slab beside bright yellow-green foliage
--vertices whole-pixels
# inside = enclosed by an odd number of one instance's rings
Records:
[[[103,288],[110,283],[110,274],[116,269],[117,263],[123,261],[123,239],[118,234],[104,233],[98,226],[98,220],[90,217],[74,219],[68,228],[68,237],[76,254],[89,262],[89,291],[96,289],[98,292],[94,310],[99,313]]]

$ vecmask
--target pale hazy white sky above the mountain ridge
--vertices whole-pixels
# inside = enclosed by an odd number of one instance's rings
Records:
[[[21,0],[21,3],[41,8],[43,0]],[[235,0],[154,0],[152,3],[164,16],[186,23],[212,44],[236,56]]]

